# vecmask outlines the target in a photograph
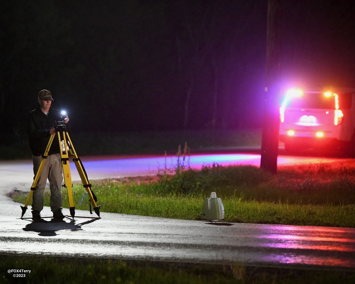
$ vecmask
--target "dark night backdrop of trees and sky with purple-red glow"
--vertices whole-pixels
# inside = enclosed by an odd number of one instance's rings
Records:
[[[260,127],[267,0],[2,1],[1,133]],[[284,1],[282,84],[354,87],[354,1]]]

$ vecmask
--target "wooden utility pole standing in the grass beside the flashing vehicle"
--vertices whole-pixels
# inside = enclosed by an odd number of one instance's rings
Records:
[[[260,168],[277,173],[279,107],[281,101],[281,56],[283,0],[268,0],[266,87]]]

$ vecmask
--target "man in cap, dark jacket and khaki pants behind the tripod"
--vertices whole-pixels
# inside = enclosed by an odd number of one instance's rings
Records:
[[[47,148],[49,138],[56,132],[54,122],[63,120],[59,110],[51,107],[52,101],[52,95],[48,90],[40,91],[38,93],[39,105],[29,113],[28,117],[28,141],[33,154],[33,172],[35,175],[37,174],[39,165],[42,161],[42,155]],[[64,122],[67,123],[68,121],[69,118],[66,116]],[[61,149],[59,148],[58,139],[55,137],[49,149],[48,157],[45,159],[35,190],[33,191],[33,219],[41,218],[40,212],[43,209],[43,196],[47,178],[49,180],[50,188],[50,209],[53,212],[53,217],[59,219],[64,218],[62,213],[61,186],[63,175],[60,151]]]

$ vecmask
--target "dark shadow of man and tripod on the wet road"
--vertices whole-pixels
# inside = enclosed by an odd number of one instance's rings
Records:
[[[39,236],[53,237],[58,235],[56,232],[61,230],[70,230],[70,231],[81,231],[81,227],[86,224],[90,224],[97,220],[98,218],[91,219],[82,223],[76,223],[77,220],[71,220],[66,222],[65,220],[51,219],[49,221],[45,219],[40,219],[39,221],[33,221],[32,218],[28,218],[31,223],[27,224],[23,230],[24,231],[33,231],[37,232]]]

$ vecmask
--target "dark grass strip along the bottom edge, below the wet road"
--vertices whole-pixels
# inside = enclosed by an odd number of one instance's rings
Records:
[[[127,284],[242,284],[343,283],[355,281],[354,272],[249,267],[239,263],[187,264],[59,257],[0,255],[2,284],[127,283]],[[26,269],[31,273],[8,273]],[[25,277],[13,277],[25,274]]]

